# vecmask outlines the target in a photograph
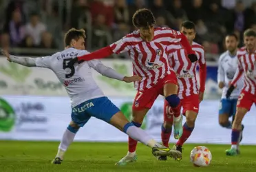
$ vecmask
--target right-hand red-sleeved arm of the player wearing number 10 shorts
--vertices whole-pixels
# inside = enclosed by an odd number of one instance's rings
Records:
[[[204,49],[200,49],[200,59],[199,59],[199,76],[200,76],[200,89],[199,89],[199,97],[200,102],[204,99],[204,90],[206,83],[206,59]]]

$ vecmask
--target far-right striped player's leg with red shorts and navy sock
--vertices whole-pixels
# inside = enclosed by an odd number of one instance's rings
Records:
[[[237,101],[237,111],[232,125],[231,149],[226,150],[226,155],[237,155],[239,153],[239,140],[241,138],[242,120],[253,105],[254,95],[242,91]]]

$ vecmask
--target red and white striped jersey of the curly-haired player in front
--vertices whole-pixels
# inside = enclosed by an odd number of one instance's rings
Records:
[[[167,46],[179,43],[181,33],[170,28],[155,28],[153,40],[143,41],[140,32],[134,31],[110,45],[112,52],[128,52],[133,64],[134,75],[142,77],[134,87],[138,91],[151,88],[160,78],[171,74]]]

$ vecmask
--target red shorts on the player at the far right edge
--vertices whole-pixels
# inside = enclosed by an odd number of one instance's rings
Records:
[[[256,96],[243,89],[237,100],[237,107],[242,107],[250,111],[250,107],[252,107],[253,103],[256,103]]]

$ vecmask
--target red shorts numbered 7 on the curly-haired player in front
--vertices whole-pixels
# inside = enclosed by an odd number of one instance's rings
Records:
[[[138,92],[134,98],[133,110],[150,109],[159,95],[163,95],[164,85],[167,83],[173,83],[178,85],[178,80],[175,72],[171,71],[171,74],[164,76],[164,78],[158,80],[158,83],[149,89],[145,89],[142,92]]]

